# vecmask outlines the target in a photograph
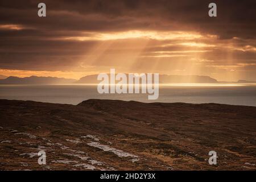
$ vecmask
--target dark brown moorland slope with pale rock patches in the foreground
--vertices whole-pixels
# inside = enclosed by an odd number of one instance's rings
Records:
[[[0,115],[0,169],[256,169],[256,107],[0,100]]]

